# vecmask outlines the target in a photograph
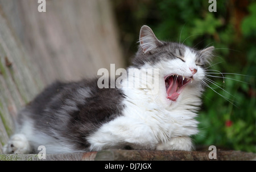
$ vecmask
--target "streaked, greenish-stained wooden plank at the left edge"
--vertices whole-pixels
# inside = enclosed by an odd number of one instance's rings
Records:
[[[35,70],[20,48],[9,23],[0,8],[0,143],[1,148],[14,131],[14,119],[18,109],[39,91],[35,83]],[[2,151],[2,149],[1,149]],[[0,152],[1,152],[0,151]]]

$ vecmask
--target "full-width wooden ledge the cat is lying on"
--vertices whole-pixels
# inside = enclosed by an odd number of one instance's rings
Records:
[[[106,150],[67,154],[46,154],[47,161],[209,161],[205,151]],[[37,154],[0,154],[0,160],[39,161]],[[217,161],[256,161],[255,153],[218,151]],[[214,159],[213,159],[214,161]]]

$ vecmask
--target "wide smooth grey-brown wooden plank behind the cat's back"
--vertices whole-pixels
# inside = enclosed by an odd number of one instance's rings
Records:
[[[93,77],[110,63],[124,67],[108,0],[47,1],[46,12],[34,0],[0,5],[43,83]]]

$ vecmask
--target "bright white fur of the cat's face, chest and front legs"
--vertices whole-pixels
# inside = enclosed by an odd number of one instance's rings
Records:
[[[126,95],[123,104],[126,108],[124,116],[104,124],[99,130],[88,137],[90,151],[105,148],[122,148],[130,145],[134,149],[168,149],[191,151],[192,141],[189,136],[197,134],[198,122],[194,119],[198,106],[201,105],[202,88],[199,80],[203,70],[198,68],[176,102],[167,100],[164,76],[178,74],[192,76],[189,66],[195,65],[195,54],[186,49],[185,59],[173,59],[160,62],[154,66],[145,65],[142,68],[159,68],[159,92],[148,94],[147,89],[126,88],[129,85],[124,80],[123,92]],[[192,59],[192,60],[191,60]],[[184,67],[185,66],[185,67]],[[155,77],[155,76],[154,76]],[[139,76],[135,79],[140,80]]]

